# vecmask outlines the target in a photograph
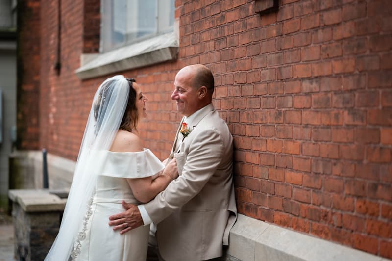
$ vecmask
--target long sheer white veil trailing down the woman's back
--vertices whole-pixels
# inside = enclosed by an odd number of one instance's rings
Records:
[[[129,84],[121,75],[106,79],[94,95],[60,230],[45,261],[68,261],[71,252],[77,251],[75,241],[83,239],[80,230],[88,215],[89,201],[102,164],[90,152],[110,149],[128,96]]]

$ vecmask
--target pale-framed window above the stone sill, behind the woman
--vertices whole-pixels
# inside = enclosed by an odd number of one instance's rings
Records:
[[[102,0],[101,52],[173,31],[174,0]]]

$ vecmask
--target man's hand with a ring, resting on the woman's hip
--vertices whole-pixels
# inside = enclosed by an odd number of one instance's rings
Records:
[[[114,226],[113,230],[121,230],[120,234],[130,231],[131,229],[143,226],[143,219],[136,205],[122,202],[125,212],[115,214],[109,217],[109,226]]]

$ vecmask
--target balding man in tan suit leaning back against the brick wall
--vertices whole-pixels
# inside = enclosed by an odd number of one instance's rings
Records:
[[[184,115],[169,159],[177,160],[179,177],[155,199],[110,216],[109,225],[125,233],[157,224],[160,258],[209,260],[228,245],[237,209],[232,179],[232,137],[212,102],[214,77],[201,64],[182,68],[174,79],[172,100]]]

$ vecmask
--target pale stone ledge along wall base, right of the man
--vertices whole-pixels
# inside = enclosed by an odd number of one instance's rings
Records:
[[[243,261],[387,261],[239,214],[230,231],[229,256]]]

